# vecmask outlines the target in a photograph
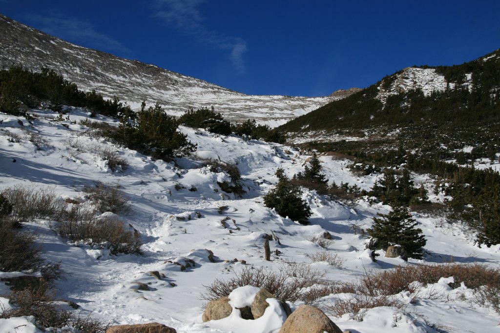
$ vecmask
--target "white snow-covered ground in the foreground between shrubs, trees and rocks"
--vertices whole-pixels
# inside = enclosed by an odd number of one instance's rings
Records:
[[[303,171],[308,156],[292,147],[182,127],[180,130],[197,144],[196,156],[237,165],[246,190],[239,198],[218,187],[217,181],[228,180],[227,174],[211,172],[195,156],[179,158],[176,163],[155,161],[136,151],[115,147],[103,138],[82,135],[88,130],[79,124],[87,117],[83,110],[72,109],[70,121],[54,121],[57,114],[48,111],[34,113],[37,119],[31,123],[0,113],[0,190],[35,184],[50,187],[63,198],[82,199],[84,185],[96,181],[119,185],[132,207],[132,212],[122,218],[142,234],[144,242],[143,256],[114,256],[107,250],[71,244],[54,235],[49,221],[26,224],[27,229],[40,234],[38,242],[47,260],[61,261],[62,269],[69,273],[66,280],[57,282],[57,297],[80,305],[78,311],[82,314],[91,313],[113,324],[157,322],[177,332],[277,332],[275,326],[264,320],[250,325],[231,317],[203,323],[201,315],[206,301],[200,297],[206,292],[204,286],[215,279],[234,277],[234,272],[243,267],[280,270],[300,263],[324,272],[325,279],[343,282],[397,265],[453,261],[499,267],[498,246],[479,248],[458,226],[416,213],[414,217],[427,239],[424,259],[409,259],[406,263],[400,258],[384,258],[383,251],[378,251],[380,257],[372,262],[364,251],[366,238],[354,233],[352,225],[369,228],[376,213],[388,211],[387,206],[380,204],[359,201],[351,208],[304,191],[303,199],[312,210],[310,225],[280,217],[263,206],[262,196],[277,182],[274,172],[278,167],[289,177]],[[129,166],[112,172],[96,153],[104,148],[116,150]],[[368,189],[375,181],[376,176],[358,177],[350,173],[347,161],[329,156],[321,156],[321,161],[330,182],[347,182]],[[420,177],[419,181],[425,179]],[[221,220],[226,217],[224,228]],[[280,254],[273,253],[271,261],[265,261],[262,236],[271,231],[281,243],[271,241],[271,251],[277,249]],[[325,231],[332,235],[326,251],[345,260],[340,268],[325,262],[312,263],[309,258],[325,251],[309,240]],[[208,260],[207,250],[213,252],[214,262]],[[194,267],[180,271],[177,265],[165,263],[185,258],[193,260]],[[165,278],[158,280],[147,273],[150,271],[158,271]],[[148,284],[150,290],[137,290],[134,282]],[[448,282],[442,279],[425,287],[439,290],[442,298],[414,302],[401,294],[398,299],[405,303],[402,310],[370,309],[361,322],[348,315],[330,319],[342,331],[358,333],[498,332],[500,316],[491,309],[470,305],[459,294],[468,295],[471,291],[465,287],[451,290]],[[0,283],[0,295],[6,293],[7,287]],[[320,303],[334,303],[342,297],[349,296],[330,295]],[[241,294],[236,297],[241,298]],[[5,299],[0,298],[0,302],[9,306]],[[276,316],[266,318],[275,323],[280,318],[279,314]],[[29,318],[0,320],[0,332],[37,332],[28,321]],[[426,322],[440,326],[441,331],[435,331]]]

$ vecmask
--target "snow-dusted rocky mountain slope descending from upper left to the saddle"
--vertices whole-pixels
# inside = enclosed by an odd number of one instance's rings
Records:
[[[68,43],[0,15],[0,67],[46,66],[76,83],[81,90],[117,96],[138,109],[159,101],[179,115],[188,108],[213,106],[230,120],[256,119],[274,127],[296,116],[345,97],[349,91],[325,97],[246,95],[151,64],[127,60]],[[347,93],[345,93],[347,92]]]

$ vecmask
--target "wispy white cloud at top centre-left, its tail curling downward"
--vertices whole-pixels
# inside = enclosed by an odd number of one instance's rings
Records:
[[[243,54],[247,50],[246,41],[209,30],[203,24],[204,17],[198,9],[199,4],[203,2],[205,0],[155,0],[153,16],[192,36],[198,42],[227,50],[236,70],[244,72]]]

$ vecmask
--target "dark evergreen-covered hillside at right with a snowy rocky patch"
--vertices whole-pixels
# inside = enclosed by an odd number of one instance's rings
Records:
[[[440,134],[450,128],[492,133],[500,121],[499,99],[500,49],[461,65],[404,68],[280,128],[300,141],[336,141],[338,134],[360,138],[401,129],[426,135],[436,128],[442,129]]]

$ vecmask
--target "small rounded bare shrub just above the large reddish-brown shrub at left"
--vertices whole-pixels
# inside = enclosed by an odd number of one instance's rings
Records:
[[[128,199],[120,190],[119,186],[111,186],[96,182],[95,186],[85,185],[83,187],[85,197],[89,199],[101,212],[112,212],[115,214],[128,214],[131,211]]]

